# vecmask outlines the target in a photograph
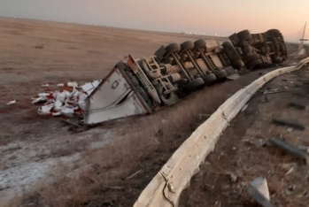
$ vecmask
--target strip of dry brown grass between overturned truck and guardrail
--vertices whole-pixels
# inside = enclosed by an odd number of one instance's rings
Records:
[[[211,114],[227,94],[247,81],[226,82],[220,90],[205,88],[151,116],[127,118],[125,123],[130,124],[119,139],[103,148],[86,149],[79,163],[51,169],[53,176],[37,186],[35,200],[27,199],[27,203],[55,207],[132,205],[174,150],[205,121],[198,114]],[[140,169],[143,171],[134,181],[126,180]]]

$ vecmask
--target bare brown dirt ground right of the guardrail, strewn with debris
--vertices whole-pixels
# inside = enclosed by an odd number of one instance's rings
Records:
[[[267,144],[281,135],[297,147],[309,147],[308,107],[301,110],[290,106],[291,101],[309,104],[305,73],[309,69],[284,74],[261,88],[262,92],[279,88],[282,93],[265,96],[259,91],[251,98],[220,137],[190,187],[182,192],[180,206],[256,206],[243,184],[260,176],[267,179],[276,206],[308,206],[309,171],[304,159]],[[272,123],[274,117],[295,119],[306,128],[276,125]],[[237,180],[231,181],[232,174]]]

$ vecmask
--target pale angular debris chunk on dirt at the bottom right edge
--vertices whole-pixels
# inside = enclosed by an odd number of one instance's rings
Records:
[[[275,207],[275,205],[269,201],[269,190],[265,178],[259,177],[251,181],[247,187],[247,193],[260,205],[264,207]]]

